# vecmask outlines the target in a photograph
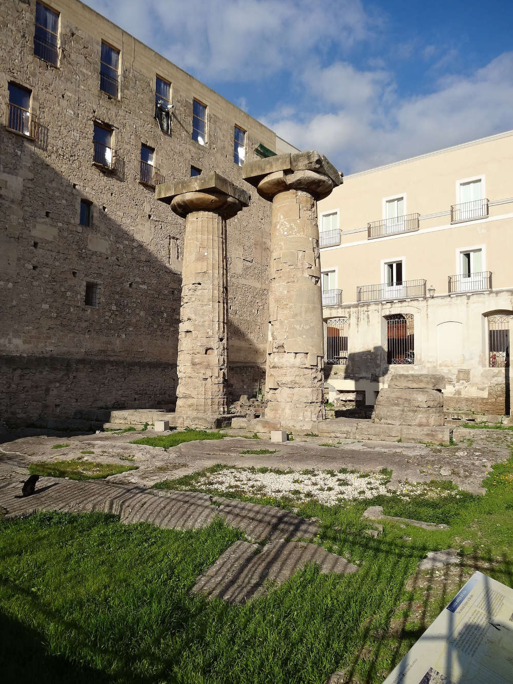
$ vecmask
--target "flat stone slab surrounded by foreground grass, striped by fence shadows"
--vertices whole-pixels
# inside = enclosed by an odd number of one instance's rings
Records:
[[[259,552],[256,544],[238,541],[198,577],[191,591],[207,594],[210,599],[245,603],[265,594],[272,583],[279,585],[287,581],[296,570],[312,561],[326,575],[345,575],[358,570],[358,566],[317,544],[277,540]]]

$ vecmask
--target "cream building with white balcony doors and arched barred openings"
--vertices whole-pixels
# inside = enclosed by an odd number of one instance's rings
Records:
[[[373,404],[400,365],[445,375],[446,412],[510,413],[512,155],[508,131],[344,176],[319,202],[332,395]]]

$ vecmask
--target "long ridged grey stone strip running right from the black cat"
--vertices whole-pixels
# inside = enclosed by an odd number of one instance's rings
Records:
[[[153,523],[168,529],[207,527],[219,515],[228,525],[244,531],[257,542],[273,539],[311,538],[319,525],[274,508],[244,501],[218,499],[211,503],[199,492],[151,491],[137,486],[120,486],[105,480],[75,480],[40,477],[34,495],[21,497],[20,478],[0,473],[0,505],[7,517],[37,510],[66,512],[101,511],[120,516],[123,523]]]

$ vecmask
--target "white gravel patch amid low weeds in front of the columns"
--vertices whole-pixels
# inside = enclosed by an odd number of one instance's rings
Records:
[[[217,473],[207,473],[197,480],[196,486],[218,492],[239,492],[258,497],[287,496],[297,501],[316,499],[325,505],[334,505],[350,499],[371,499],[378,495],[390,495],[386,486],[389,477],[383,473],[327,473],[313,469],[283,473],[262,472],[255,469],[226,467]],[[440,491],[425,484],[398,483],[394,490],[402,499],[422,494],[432,496],[458,496],[457,492]]]

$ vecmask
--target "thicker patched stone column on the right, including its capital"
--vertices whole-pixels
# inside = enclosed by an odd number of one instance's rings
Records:
[[[243,176],[272,201],[265,418],[325,417],[324,329],[317,200],[342,183],[317,152],[247,163]]]

